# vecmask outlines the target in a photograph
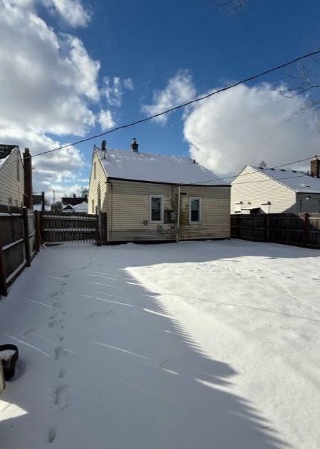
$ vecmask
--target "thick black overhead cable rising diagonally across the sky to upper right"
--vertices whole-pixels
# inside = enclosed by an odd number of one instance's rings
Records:
[[[150,115],[149,117],[146,117],[145,119],[139,119],[139,120],[133,121],[131,123],[126,123],[124,125],[119,125],[119,126],[116,126],[116,128],[112,128],[111,130],[108,130],[108,131],[105,131],[105,132],[101,132],[100,134],[95,134],[94,136],[83,138],[83,139],[81,139],[79,141],[76,141],[76,142],[73,142],[73,143],[68,143],[66,145],[61,145],[60,147],[57,147],[57,148],[53,148],[53,149],[49,149],[49,150],[46,150],[46,151],[42,151],[41,153],[34,154],[31,157],[35,158],[36,156],[42,156],[44,154],[53,153],[53,151],[58,151],[59,149],[72,147],[73,145],[79,145],[79,143],[84,143],[84,142],[91,141],[94,138],[98,138],[98,137],[105,136],[107,134],[111,134],[111,132],[116,132],[118,130],[124,130],[125,128],[131,128],[132,126],[138,125],[139,123],[144,123],[146,121],[149,121],[149,120],[152,120],[152,119],[156,119],[157,117],[160,117],[161,115],[168,114],[169,112],[172,112],[174,110],[185,108],[185,106],[189,106],[189,105],[194,104],[194,103],[196,103],[198,101],[202,101],[202,100],[204,100],[206,98],[209,98],[209,97],[212,97],[213,95],[216,95],[218,93],[225,92],[226,90],[229,90],[231,88],[237,87],[240,84],[243,84],[245,82],[256,80],[257,78],[262,77],[264,75],[267,75],[268,73],[271,73],[271,72],[283,69],[286,66],[294,64],[295,62],[304,60],[306,58],[310,58],[310,56],[315,56],[318,53],[320,53],[320,49],[316,50],[316,51],[311,51],[310,53],[306,53],[306,54],[304,54],[302,56],[298,56],[297,58],[294,58],[294,59],[292,59],[290,61],[287,61],[287,62],[284,62],[282,64],[279,64],[278,66],[274,66],[271,69],[267,69],[265,71],[257,73],[256,75],[252,75],[250,77],[244,78],[243,80],[238,81],[238,82],[236,82],[234,84],[230,84],[229,86],[226,86],[224,88],[221,88],[221,89],[218,89],[218,90],[214,90],[213,92],[211,92],[209,94],[206,94],[206,95],[203,95],[202,97],[197,97],[197,98],[192,99],[190,101],[187,101],[187,102],[185,102],[183,104],[179,104],[178,106],[174,106],[173,108],[170,108],[170,109],[167,109],[167,110],[163,110],[162,112],[159,112],[158,114]],[[14,161],[10,161],[10,162],[14,162]]]

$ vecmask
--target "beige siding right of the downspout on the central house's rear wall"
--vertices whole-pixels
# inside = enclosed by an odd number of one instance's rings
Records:
[[[189,221],[190,197],[201,199],[199,222]],[[188,239],[226,239],[230,237],[230,187],[181,187],[179,237]]]

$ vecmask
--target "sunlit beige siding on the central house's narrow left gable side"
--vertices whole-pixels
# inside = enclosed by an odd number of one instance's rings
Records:
[[[98,151],[98,150],[97,150]],[[96,164],[96,177],[94,178],[94,163]],[[88,213],[95,214],[96,206],[100,204],[100,210],[107,212],[107,176],[105,170],[101,164],[100,159],[94,151],[92,158],[92,169],[89,183],[89,196],[88,196]],[[94,207],[92,207],[92,201],[94,201]]]

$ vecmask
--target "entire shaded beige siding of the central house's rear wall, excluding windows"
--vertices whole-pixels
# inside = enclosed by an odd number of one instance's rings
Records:
[[[109,240],[175,240],[175,223],[150,222],[150,195],[163,195],[164,210],[177,219],[178,187],[170,184],[111,180],[108,186]],[[189,198],[200,197],[202,217],[189,223]],[[179,239],[230,237],[230,188],[183,186]]]

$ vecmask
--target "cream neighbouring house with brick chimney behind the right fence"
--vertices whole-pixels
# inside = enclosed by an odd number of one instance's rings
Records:
[[[231,182],[231,213],[320,213],[320,160],[310,173],[246,165]]]

